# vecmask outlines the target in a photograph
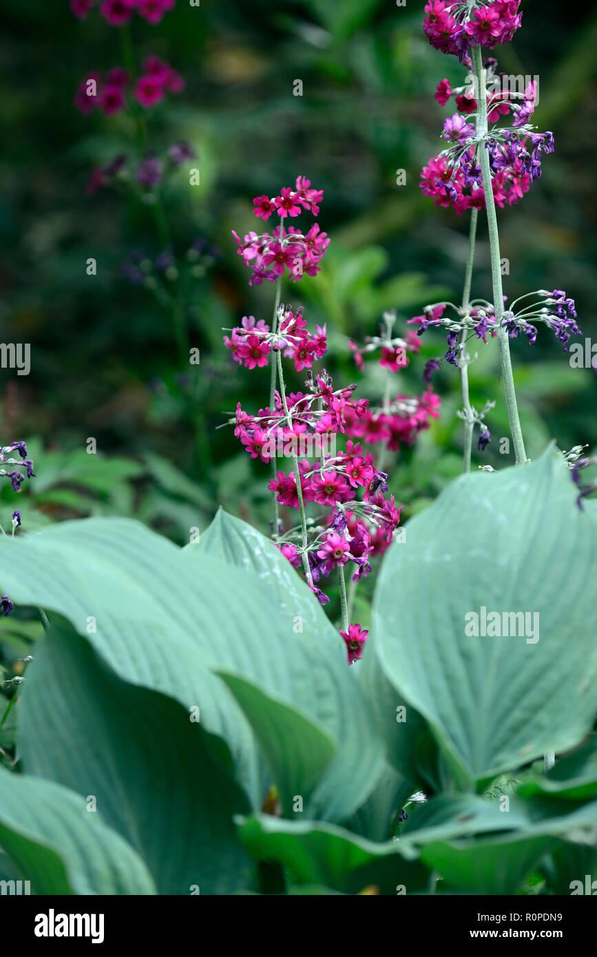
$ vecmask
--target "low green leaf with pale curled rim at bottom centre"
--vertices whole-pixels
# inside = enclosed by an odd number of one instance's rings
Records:
[[[429,872],[407,859],[399,841],[376,843],[334,824],[284,821],[268,814],[238,818],[243,843],[258,860],[276,860],[301,884],[323,884],[348,894],[376,885],[382,894],[427,886]],[[405,893],[405,891],[403,891]]]

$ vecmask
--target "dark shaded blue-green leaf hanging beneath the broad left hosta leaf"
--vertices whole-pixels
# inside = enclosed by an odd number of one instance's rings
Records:
[[[248,804],[220,767],[221,741],[190,718],[176,701],[118,678],[74,631],[53,626],[23,685],[23,766],[76,790],[81,816],[93,795],[160,894],[189,894],[191,885],[226,894],[251,884],[232,824]]]

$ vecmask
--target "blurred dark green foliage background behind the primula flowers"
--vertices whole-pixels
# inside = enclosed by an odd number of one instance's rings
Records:
[[[466,217],[423,197],[420,167],[439,148],[446,110],[436,83],[462,82],[452,59],[434,52],[421,23],[423,0],[399,8],[390,0],[178,0],[156,27],[135,17],[138,61],[157,55],[187,89],[150,114],[158,152],[181,139],[196,149],[164,189],[174,250],[185,255],[201,238],[204,252],[189,278],[186,322],[201,349],[189,394],[177,358],[171,316],[143,286],[122,275],[134,250],[163,251],[151,211],[121,192],[86,194],[93,167],[135,156],[134,130],[123,114],[82,116],[73,106],[90,70],[122,64],[119,31],[92,12],[83,23],[64,3],[5,0],[2,17],[0,123],[0,282],[2,342],[29,342],[32,371],[1,370],[2,442],[27,438],[37,478],[16,496],[2,489],[3,514],[29,498],[24,527],[87,514],[134,515],[188,541],[216,504],[264,530],[268,469],[220,429],[236,402],[250,412],[267,404],[268,370],[237,367],[222,327],[243,315],[270,321],[274,287],[249,287],[231,230],[258,221],[254,195],[275,195],[298,174],[324,190],[319,222],[332,243],[321,274],[284,287],[282,300],[304,305],[310,327],[328,323],[326,357],[337,384],[359,383],[375,402],[383,378],[375,363],[356,372],[346,337],[374,334],[382,312],[403,322],[439,297],[459,300],[467,249]],[[535,122],[553,130],[556,152],[518,206],[499,212],[502,256],[510,260],[505,291],[513,299],[535,288],[563,288],[577,301],[579,323],[595,338],[594,144],[597,139],[597,14],[555,0],[524,0],[514,43],[497,48],[506,73],[540,77]],[[293,95],[301,79],[303,95]],[[132,162],[132,160],[131,160]],[[405,186],[396,170],[407,171]],[[300,223],[310,225],[310,215]],[[86,261],[98,275],[86,275]],[[193,264],[191,264],[193,265]],[[473,295],[491,299],[483,217]],[[167,280],[166,280],[167,285]],[[418,359],[396,390],[419,392],[424,362],[441,355],[444,337],[427,333]],[[507,419],[495,344],[480,345],[470,367],[473,403],[498,405],[488,417],[494,442],[475,465],[511,464],[498,454]],[[512,345],[527,452],[550,436],[561,448],[597,441],[595,372],[573,369],[561,344],[540,327],[535,347]],[[301,376],[290,373],[290,387]],[[457,373],[434,379],[440,419],[412,450],[401,451],[392,491],[405,515],[424,507],[460,471]],[[98,455],[85,451],[94,436]],[[474,467],[475,467],[474,465]],[[4,521],[4,520],[3,520]]]

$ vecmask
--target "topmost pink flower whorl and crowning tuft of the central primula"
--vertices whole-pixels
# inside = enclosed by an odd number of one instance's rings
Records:
[[[311,189],[311,181],[303,176],[297,177],[295,189],[284,187],[279,196],[255,196],[254,213],[265,222],[272,213],[279,216],[279,225],[272,233],[248,233],[241,240],[232,230],[238,245],[238,255],[243,257],[246,266],[253,272],[249,285],[260,285],[264,279],[276,282],[288,270],[293,282],[298,282],[305,273],[316,276],[321,266],[321,258],[329,246],[327,234],[320,232],[314,223],[307,234],[298,233],[290,227],[284,229],[282,220],[295,218],[303,211],[318,215],[319,204],[323,196],[322,189]]]

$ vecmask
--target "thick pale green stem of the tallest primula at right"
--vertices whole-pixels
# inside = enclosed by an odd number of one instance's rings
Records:
[[[473,63],[475,65],[475,78],[478,90],[476,132],[479,136],[485,137],[487,135],[487,86],[485,84],[483,58],[481,56],[481,48],[479,46],[473,47]],[[494,191],[492,189],[489,152],[485,143],[483,142],[479,144],[479,149],[481,154],[480,159],[483,191],[485,193],[485,210],[487,212],[487,227],[489,231],[489,247],[491,251],[492,285],[494,290],[496,324],[498,326],[499,359],[501,362],[501,374],[504,381],[506,408],[508,410],[508,421],[510,422],[510,434],[512,435],[512,441],[514,443],[516,463],[517,465],[521,465],[526,461],[526,452],[524,451],[524,440],[522,438],[522,430],[520,428],[519,409],[517,405],[516,390],[514,388],[512,361],[510,359],[510,343],[508,339],[508,332],[501,324],[503,318],[503,291],[501,288],[498,217],[496,215],[496,203],[494,201]]]

